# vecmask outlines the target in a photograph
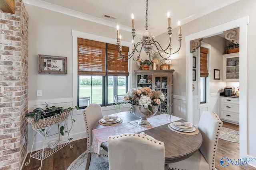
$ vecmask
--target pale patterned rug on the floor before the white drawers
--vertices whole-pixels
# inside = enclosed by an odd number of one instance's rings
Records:
[[[220,131],[220,139],[234,143],[239,143],[239,132],[233,129],[222,127]]]

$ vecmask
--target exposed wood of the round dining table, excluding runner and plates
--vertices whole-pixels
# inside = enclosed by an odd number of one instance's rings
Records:
[[[113,114],[114,116],[116,114]],[[111,116],[111,115],[110,115]],[[139,120],[138,117],[131,114],[130,112],[121,112],[118,113],[123,122]],[[184,122],[185,120],[181,119],[177,122]],[[118,125],[116,125],[118,126]],[[94,129],[104,128],[107,126],[100,125],[96,123]],[[202,145],[202,135],[199,132],[197,135],[183,135],[177,132],[174,132],[169,129],[168,124],[154,127],[144,131],[147,135],[154,137],[158,141],[164,142],[165,146],[165,164],[178,162],[190,157],[196,150],[198,150]],[[107,142],[101,144],[103,149],[108,150]]]

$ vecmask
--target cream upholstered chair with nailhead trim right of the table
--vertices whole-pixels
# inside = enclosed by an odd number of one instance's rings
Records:
[[[223,122],[214,112],[203,111],[198,123],[203,142],[192,156],[168,164],[171,170],[215,170],[215,157]]]

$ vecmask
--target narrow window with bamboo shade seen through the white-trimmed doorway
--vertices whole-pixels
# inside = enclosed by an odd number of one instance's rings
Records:
[[[206,83],[208,73],[209,49],[200,47],[200,104],[206,103]]]

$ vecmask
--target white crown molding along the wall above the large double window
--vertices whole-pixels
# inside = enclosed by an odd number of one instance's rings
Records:
[[[62,6],[51,4],[49,2],[44,2],[42,0],[23,0],[23,3],[33,5],[33,6],[37,6],[37,7],[40,7],[40,8],[44,8],[44,9],[47,9],[47,10],[51,10],[51,11],[54,11],[54,12],[59,12],[59,13],[62,13],[62,14],[66,14],[68,16],[80,18],[82,20],[91,21],[91,22],[94,22],[94,23],[99,23],[99,24],[106,25],[106,26],[109,26],[109,27],[116,28],[116,24],[117,24],[117,23],[112,22],[112,21],[107,21],[107,20],[104,20],[102,18],[97,18],[97,17],[91,16],[91,15],[88,15],[88,14],[84,14],[82,12],[77,12],[75,10],[71,10],[71,9],[68,9],[68,8],[64,8]],[[127,27],[125,25],[120,25],[120,24],[118,24],[118,25],[119,25],[119,29],[131,32],[131,27]],[[143,33],[144,33],[144,31],[136,30],[136,34],[142,35]]]

